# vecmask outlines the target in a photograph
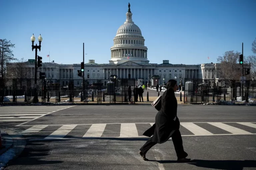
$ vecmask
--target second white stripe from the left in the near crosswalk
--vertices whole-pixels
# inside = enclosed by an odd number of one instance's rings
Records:
[[[67,124],[63,125],[54,131],[52,134],[47,136],[45,139],[53,139],[53,138],[63,138],[65,137],[71,130],[73,130],[77,125],[76,124]]]

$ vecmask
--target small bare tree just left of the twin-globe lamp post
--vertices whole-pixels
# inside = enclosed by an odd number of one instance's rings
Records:
[[[22,82],[26,78],[30,78],[30,71],[28,68],[28,62],[21,58],[16,63],[8,64],[8,77],[18,79],[20,88],[22,88]]]

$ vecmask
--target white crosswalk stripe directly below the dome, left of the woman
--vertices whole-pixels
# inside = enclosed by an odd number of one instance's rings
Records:
[[[138,130],[135,123],[121,123],[119,137],[138,137]]]

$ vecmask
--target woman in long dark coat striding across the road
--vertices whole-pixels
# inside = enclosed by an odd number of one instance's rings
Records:
[[[177,99],[174,91],[178,89],[176,80],[169,80],[167,90],[163,93],[161,99],[161,110],[158,111],[155,118],[155,124],[144,132],[143,135],[152,137],[140,148],[139,154],[143,160],[147,161],[147,151],[157,143],[164,143],[170,137],[174,144],[174,148],[178,157],[178,162],[188,162],[186,158],[188,154],[184,151],[182,138],[179,131],[180,121],[177,117]]]

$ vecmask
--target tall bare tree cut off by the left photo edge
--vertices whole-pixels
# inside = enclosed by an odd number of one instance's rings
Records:
[[[14,47],[15,44],[12,44],[11,41],[7,41],[6,39],[0,39],[0,76],[2,79],[5,78],[6,75],[6,63],[12,61],[12,60],[16,60],[16,58],[14,58],[14,55],[12,54],[12,50],[11,48],[15,48]]]

